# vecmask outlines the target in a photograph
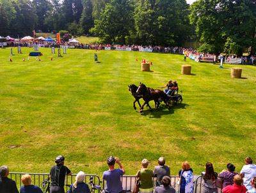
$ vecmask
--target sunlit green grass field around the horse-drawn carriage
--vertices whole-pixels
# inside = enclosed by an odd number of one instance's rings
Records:
[[[182,161],[200,174],[206,162],[218,172],[229,162],[240,171],[244,157],[256,159],[255,66],[220,69],[182,55],[117,51],[97,52],[95,64],[95,51],[72,49],[51,61],[51,48],[39,48],[41,61],[28,61],[32,51],[13,48],[8,62],[10,48],[0,50],[0,164],[12,172],[49,173],[58,155],[72,173],[99,176],[109,155],[120,158],[127,175],[144,158],[153,169],[160,156],[171,175]],[[151,72],[135,61],[144,58]],[[182,64],[191,64],[193,75],[181,75]],[[232,67],[243,68],[243,78],[230,78]],[[142,114],[132,108],[127,85],[156,88],[170,79],[183,90],[182,104]]]

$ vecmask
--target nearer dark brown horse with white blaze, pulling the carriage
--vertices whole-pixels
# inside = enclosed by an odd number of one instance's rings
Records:
[[[136,96],[142,96],[143,100],[145,101],[145,103],[140,108],[141,113],[143,112],[143,107],[145,106],[145,104],[147,104],[150,111],[152,111],[152,108],[149,105],[149,101],[153,101],[153,100],[155,102],[156,111],[158,111],[158,107],[160,104],[159,99],[161,99],[161,101],[164,101],[164,103],[166,104],[166,107],[169,109],[169,105],[167,104],[167,101],[166,101],[167,99],[166,94],[163,92],[163,90],[150,89],[150,88],[147,88],[146,85],[144,85],[143,83],[140,83],[138,89],[136,90]],[[136,101],[134,101],[134,106],[135,106],[135,102]]]

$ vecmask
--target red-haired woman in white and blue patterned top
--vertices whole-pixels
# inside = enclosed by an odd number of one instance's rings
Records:
[[[189,162],[182,162],[182,170],[179,171],[181,180],[180,193],[193,193],[193,169],[190,168]]]

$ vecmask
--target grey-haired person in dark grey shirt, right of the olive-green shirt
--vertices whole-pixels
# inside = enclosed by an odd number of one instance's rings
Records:
[[[156,166],[153,171],[153,175],[157,176],[157,182],[156,182],[157,186],[162,184],[161,180],[162,180],[163,176],[170,176],[170,167],[164,166],[165,160],[163,157],[160,157],[158,159],[158,164],[159,164],[159,166]]]

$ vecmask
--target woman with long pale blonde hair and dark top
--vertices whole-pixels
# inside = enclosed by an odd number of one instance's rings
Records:
[[[76,182],[70,185],[70,189],[67,193],[89,193],[89,187],[84,183],[85,175],[83,171],[79,171],[76,175]]]

